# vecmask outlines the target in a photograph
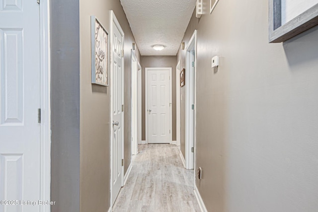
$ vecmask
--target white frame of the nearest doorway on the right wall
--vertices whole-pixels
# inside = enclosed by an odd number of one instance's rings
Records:
[[[195,169],[194,165],[194,152],[191,152],[191,148],[196,146],[196,63],[197,63],[197,30],[194,30],[193,35],[186,47],[186,57],[185,57],[185,78],[187,79],[186,89],[185,89],[185,168]],[[194,51],[194,57],[191,52]],[[190,67],[192,68],[192,60],[194,59],[194,76],[190,74]],[[193,78],[194,77],[194,78]],[[190,89],[192,88],[193,89]],[[194,111],[192,113],[192,102],[191,99],[194,98]],[[192,115],[193,114],[193,115]],[[192,130],[193,129],[193,130]],[[193,144],[192,144],[193,140]]]

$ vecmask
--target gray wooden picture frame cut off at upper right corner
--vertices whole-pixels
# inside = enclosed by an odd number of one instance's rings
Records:
[[[283,1],[286,3],[286,1]],[[296,3],[304,3],[294,1]],[[307,1],[316,3],[314,0]],[[290,8],[290,7],[288,7]],[[294,6],[291,9],[283,5],[282,0],[269,0],[269,43],[284,42],[310,28],[318,25],[318,0],[317,3],[310,8],[306,8],[304,12],[301,7]],[[297,11],[298,10],[298,11]],[[300,14],[298,14],[300,12]],[[288,19],[286,23],[287,13],[298,14],[292,19]],[[282,21],[283,20],[283,21]]]

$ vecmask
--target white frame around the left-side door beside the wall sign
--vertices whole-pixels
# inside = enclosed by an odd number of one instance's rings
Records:
[[[112,38],[113,38],[113,23],[118,27],[118,30],[120,31],[120,33],[123,35],[123,40],[125,41],[125,34],[124,34],[124,31],[122,30],[116,16],[115,16],[115,13],[113,10],[110,10],[110,46],[109,46],[109,52],[110,52],[110,64],[108,66],[110,66],[110,89],[112,90],[112,87],[113,87],[113,83],[112,83],[112,80],[113,80],[113,68],[112,68],[112,63],[113,63],[113,57],[111,57],[111,54],[112,54]],[[124,44],[125,42],[123,42],[123,49],[124,49]],[[122,69],[123,69],[123,72],[125,70],[124,68],[124,64],[125,64],[125,60],[124,60],[125,57],[123,57],[122,59]],[[109,67],[108,67],[109,68]],[[122,93],[123,93],[123,105],[125,105],[125,98],[124,98],[124,88],[125,88],[125,75],[123,75],[123,83],[122,83]],[[112,101],[113,101],[113,95],[112,95],[112,91],[111,91],[111,96],[110,96],[110,208],[113,207],[113,203],[112,203],[112,198],[113,198],[113,185],[112,185],[112,171],[113,171],[113,168],[112,168],[112,164],[113,164],[113,126],[112,126],[112,122],[113,122],[113,115],[112,115],[112,111],[113,111],[113,104],[112,104]],[[124,119],[124,115],[122,116],[122,132],[123,132],[123,136],[125,135],[125,119]],[[124,150],[125,150],[125,146],[124,146],[124,137],[123,137],[123,140],[122,140],[122,150],[121,150],[121,158],[124,159],[125,161],[125,154],[124,154]],[[121,166],[121,171],[122,171],[122,178],[121,178],[121,186],[123,187],[124,186],[124,166]]]

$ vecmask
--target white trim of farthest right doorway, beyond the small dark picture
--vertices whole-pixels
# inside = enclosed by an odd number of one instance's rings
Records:
[[[180,138],[181,138],[181,114],[180,114],[180,60],[175,68],[175,91],[176,91],[176,145],[180,146]]]

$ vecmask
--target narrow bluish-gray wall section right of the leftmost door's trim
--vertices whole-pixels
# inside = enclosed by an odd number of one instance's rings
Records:
[[[79,1],[50,9],[51,212],[79,212]]]

